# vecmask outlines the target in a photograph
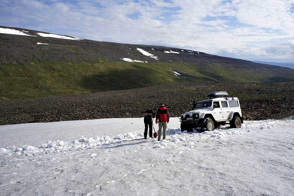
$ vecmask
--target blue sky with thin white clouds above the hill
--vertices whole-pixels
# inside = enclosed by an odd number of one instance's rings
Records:
[[[1,0],[0,25],[294,62],[294,0]]]

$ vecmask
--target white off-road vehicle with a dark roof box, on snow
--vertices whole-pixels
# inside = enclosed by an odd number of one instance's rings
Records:
[[[190,112],[181,114],[181,131],[212,131],[215,127],[230,124],[231,128],[240,128],[243,123],[239,99],[228,97],[227,92],[212,92],[208,100],[194,102]]]

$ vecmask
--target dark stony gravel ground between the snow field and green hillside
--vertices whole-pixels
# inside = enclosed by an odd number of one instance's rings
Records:
[[[0,100],[0,125],[99,118],[140,118],[163,102],[171,117],[192,109],[192,100],[227,91],[240,99],[245,120],[280,119],[294,115],[294,82],[187,82],[123,91]]]

